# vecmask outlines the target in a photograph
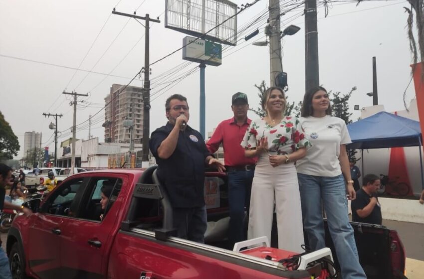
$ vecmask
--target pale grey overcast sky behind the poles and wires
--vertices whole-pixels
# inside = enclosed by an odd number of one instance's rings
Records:
[[[101,109],[112,84],[127,84],[129,78],[134,77],[144,66],[144,27],[134,19],[110,15],[118,1],[0,0],[0,111],[19,138],[21,150],[18,157],[22,156],[23,135],[27,131],[42,132],[42,146],[50,146],[50,150],[53,150],[53,131],[48,129],[48,124],[54,120],[44,118],[42,113],[63,114],[58,121],[58,130],[62,131],[59,142],[72,136],[70,97],[62,95],[63,90],[89,93],[88,98],[78,98],[85,102],[78,106],[79,124]],[[246,0],[233,2],[240,5],[246,3]],[[281,2],[283,6],[289,0]],[[266,11],[267,5],[267,0],[261,0],[241,12],[237,18],[239,29]],[[356,3],[334,0],[329,5],[326,18],[324,7],[319,5],[320,84],[328,90],[341,92],[348,92],[357,86],[358,90],[351,98],[352,111],[354,105],[370,106],[372,98],[366,93],[373,88],[372,57],[376,56],[379,103],[387,111],[404,110],[402,95],[410,80],[411,64],[405,28],[408,15],[403,8],[409,6],[407,1],[374,0],[356,6]],[[182,46],[186,35],[164,27],[164,0],[121,0],[116,10],[132,13],[137,7],[138,15],[149,13],[154,18],[160,16],[162,21],[151,27],[151,62]],[[282,42],[283,70],[288,73],[289,83],[287,95],[289,101],[295,102],[303,99],[305,91],[302,10],[303,5],[282,17],[282,29],[289,24],[301,27],[297,34],[284,37]],[[256,108],[259,99],[253,85],[262,80],[269,84],[269,49],[251,45],[255,40],[264,40],[261,37],[264,36],[266,18],[258,20],[259,35],[247,42],[240,40],[237,46],[225,47],[222,65],[206,67],[207,132],[212,131],[221,120],[231,117],[232,94],[238,91],[246,93],[250,107]],[[97,73],[86,76],[87,72],[84,71],[78,71],[73,76],[75,70],[66,67],[78,68],[98,34],[80,69],[111,73],[119,77],[105,78],[105,75]],[[239,38],[245,35],[241,33]],[[164,84],[164,76],[155,80],[155,77],[183,62],[182,52],[179,51],[152,65],[151,132],[166,123],[164,103],[173,93],[188,98],[191,107],[190,125],[199,129],[199,71],[165,89],[162,88],[168,84]],[[197,65],[190,63],[177,75],[169,77],[170,80]],[[143,83],[136,79],[132,85],[142,86]],[[165,92],[167,89],[170,90]],[[413,83],[407,92],[409,104],[415,95]],[[354,112],[353,118],[359,116],[359,112]],[[249,117],[256,116],[249,112]],[[101,127],[103,121],[104,111],[93,118],[91,127],[92,135],[99,137],[101,142],[104,141],[104,129]],[[87,126],[83,124],[77,127],[77,138],[88,138]]]

